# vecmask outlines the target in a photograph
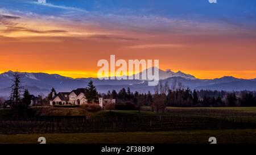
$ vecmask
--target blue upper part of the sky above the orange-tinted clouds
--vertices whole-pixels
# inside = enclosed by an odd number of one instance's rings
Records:
[[[228,24],[230,27],[240,28],[256,26],[256,1],[254,0],[217,0],[214,4],[209,3],[208,0],[46,0],[46,2],[46,5],[40,5],[38,0],[2,0],[0,9],[71,20],[90,20],[90,22],[97,20],[97,23],[107,22],[108,24],[111,22],[127,24],[129,19],[123,17],[151,18],[154,16],[155,18]],[[140,22],[139,19],[133,22],[151,25],[144,20]]]

